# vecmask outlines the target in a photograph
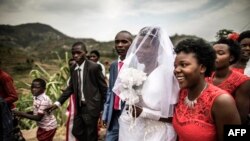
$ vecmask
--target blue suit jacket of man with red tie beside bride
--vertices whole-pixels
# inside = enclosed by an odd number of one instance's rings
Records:
[[[104,110],[103,110],[103,115],[102,115],[102,120],[104,120],[107,123],[107,129],[109,128],[111,119],[112,119],[112,113],[114,110],[114,100],[115,100],[115,93],[112,91],[117,75],[118,75],[118,61],[114,61],[110,65],[110,70],[109,70],[109,87],[107,91],[107,99],[104,104]],[[122,109],[124,107],[124,102],[122,103]]]

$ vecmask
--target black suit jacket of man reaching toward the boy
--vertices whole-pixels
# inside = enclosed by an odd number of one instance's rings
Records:
[[[58,101],[63,104],[71,94],[76,95],[76,109],[79,111],[81,106],[81,95],[77,93],[77,70],[75,67],[71,69],[71,77],[69,81],[69,86],[63,92]],[[107,84],[105,78],[102,74],[102,69],[100,65],[85,60],[84,70],[83,70],[83,93],[86,101],[86,105],[90,115],[98,117],[100,112],[103,110],[103,104],[106,99]]]

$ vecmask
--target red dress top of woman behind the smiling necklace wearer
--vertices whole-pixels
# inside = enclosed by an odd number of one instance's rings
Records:
[[[206,80],[207,82],[213,84],[213,78],[214,73]],[[232,73],[227,77],[227,79],[225,79],[222,83],[216,86],[223,90],[226,90],[229,94],[234,96],[235,90],[247,80],[250,80],[250,78],[239,72],[232,71]]]

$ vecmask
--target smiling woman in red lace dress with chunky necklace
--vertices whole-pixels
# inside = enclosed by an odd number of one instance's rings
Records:
[[[241,122],[233,97],[205,81],[213,71],[215,51],[202,39],[186,39],[175,52],[181,91],[173,125],[179,141],[223,140],[224,125]]]

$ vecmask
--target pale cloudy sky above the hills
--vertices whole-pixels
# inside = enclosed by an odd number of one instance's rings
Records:
[[[0,0],[0,24],[43,23],[98,41],[144,26],[214,41],[221,29],[250,30],[249,15],[250,0]]]

